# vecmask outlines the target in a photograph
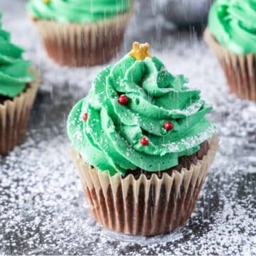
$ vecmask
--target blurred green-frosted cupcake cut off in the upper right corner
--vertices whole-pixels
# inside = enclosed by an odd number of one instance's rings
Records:
[[[204,38],[223,67],[231,92],[256,101],[255,1],[215,1]]]

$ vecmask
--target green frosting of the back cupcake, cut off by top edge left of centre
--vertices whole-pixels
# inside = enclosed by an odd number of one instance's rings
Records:
[[[129,0],[29,0],[28,12],[36,18],[63,23],[90,23],[129,10]]]

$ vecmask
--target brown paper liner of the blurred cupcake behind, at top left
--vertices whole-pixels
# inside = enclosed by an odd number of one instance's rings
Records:
[[[32,18],[49,57],[59,65],[107,63],[119,51],[132,11],[95,23],[58,23]]]

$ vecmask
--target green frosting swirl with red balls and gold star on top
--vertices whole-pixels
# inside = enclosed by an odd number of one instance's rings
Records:
[[[110,175],[169,169],[215,132],[200,91],[188,89],[183,75],[171,75],[148,48],[134,43],[128,55],[102,70],[68,117],[75,150]]]

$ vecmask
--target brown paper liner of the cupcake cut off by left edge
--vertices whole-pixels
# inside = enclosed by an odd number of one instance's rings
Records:
[[[0,104],[0,154],[6,154],[20,143],[26,132],[26,125],[31,113],[31,107],[36,97],[39,85],[39,75],[31,70],[35,80],[27,85],[13,100],[6,100]]]

